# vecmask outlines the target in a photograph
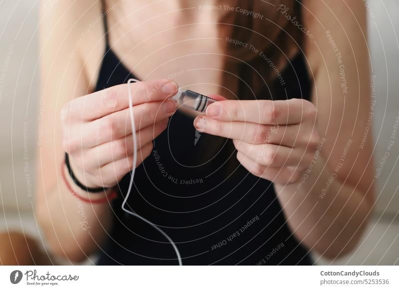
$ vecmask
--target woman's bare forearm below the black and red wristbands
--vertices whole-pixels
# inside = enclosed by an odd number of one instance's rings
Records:
[[[67,181],[72,184],[64,170]],[[57,180],[52,189],[40,194],[36,204],[37,217],[56,255],[74,262],[82,261],[96,251],[105,239],[112,222],[111,206],[108,202],[91,204],[81,201],[67,188],[61,173]],[[89,197],[87,192],[76,186],[73,188],[78,195]],[[96,194],[93,198],[98,197]]]

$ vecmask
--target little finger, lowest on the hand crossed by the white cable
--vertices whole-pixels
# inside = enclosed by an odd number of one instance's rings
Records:
[[[152,142],[141,147],[141,149],[137,151],[137,162],[135,167],[139,166],[143,162],[143,160],[151,154],[152,150]],[[120,179],[122,179],[123,176],[125,176],[133,169],[133,157],[134,156],[132,154],[123,159],[105,164],[100,168],[101,178],[103,179],[108,176],[107,179],[110,179],[111,177],[112,180],[119,181]]]

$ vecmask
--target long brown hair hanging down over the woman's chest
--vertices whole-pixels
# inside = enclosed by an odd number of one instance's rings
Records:
[[[271,84],[301,45],[303,32],[290,21],[301,22],[300,3],[297,0],[235,0],[231,6],[233,4],[237,8],[226,13],[219,24],[220,36],[225,42],[222,95],[254,99],[262,97],[259,94],[266,89],[271,93],[269,97],[277,98],[273,96]],[[247,46],[226,39],[242,41]]]

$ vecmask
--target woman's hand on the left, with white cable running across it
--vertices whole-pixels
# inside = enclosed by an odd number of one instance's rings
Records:
[[[62,146],[72,170],[87,187],[112,187],[147,158],[152,141],[167,127],[176,103],[168,100],[178,86],[171,80],[130,84],[137,133],[133,152],[129,84],[73,99],[61,110]],[[133,155],[137,163],[133,164]]]

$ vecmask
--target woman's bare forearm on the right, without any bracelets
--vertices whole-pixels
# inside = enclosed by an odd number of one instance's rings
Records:
[[[275,185],[275,189],[299,241],[336,258],[356,245],[372,206],[364,192],[338,179],[321,155],[311,168],[302,181]]]

